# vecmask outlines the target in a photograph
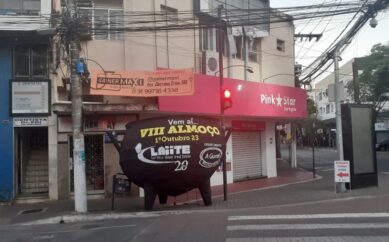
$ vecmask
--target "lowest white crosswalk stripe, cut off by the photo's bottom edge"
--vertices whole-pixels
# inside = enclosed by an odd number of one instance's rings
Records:
[[[227,238],[226,242],[378,242],[389,241],[389,236],[330,236],[330,237],[264,237],[264,238]]]

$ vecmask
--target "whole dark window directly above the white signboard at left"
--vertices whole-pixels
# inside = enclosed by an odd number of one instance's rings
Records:
[[[46,45],[16,46],[13,53],[14,77],[47,77],[47,50]]]

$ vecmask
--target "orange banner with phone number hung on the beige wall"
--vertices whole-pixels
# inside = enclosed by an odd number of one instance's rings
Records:
[[[90,94],[136,97],[193,95],[193,75],[193,69],[92,71]]]

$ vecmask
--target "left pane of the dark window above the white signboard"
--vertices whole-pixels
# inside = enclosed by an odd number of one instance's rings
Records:
[[[16,46],[14,51],[15,76],[28,77],[30,74],[30,48]]]

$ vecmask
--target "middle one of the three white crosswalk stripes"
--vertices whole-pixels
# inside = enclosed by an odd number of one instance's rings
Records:
[[[228,225],[227,231],[237,230],[318,230],[318,229],[387,229],[389,223],[348,224],[245,224]]]

